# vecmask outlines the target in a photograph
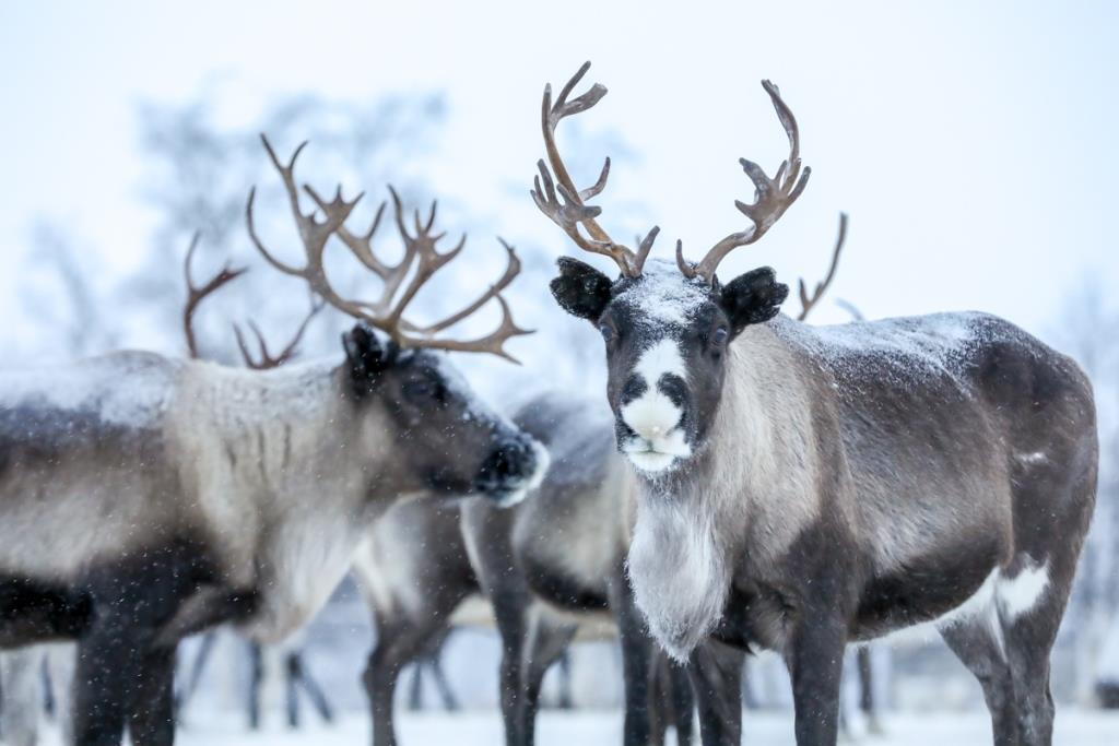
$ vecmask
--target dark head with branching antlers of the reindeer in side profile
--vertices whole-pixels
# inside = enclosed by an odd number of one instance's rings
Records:
[[[490,352],[513,360],[504,343],[528,333],[514,323],[501,296],[501,291],[520,271],[513,247],[502,242],[508,257],[505,274],[462,310],[431,324],[412,322],[404,318],[406,308],[440,268],[460,255],[466,236],[451,251],[440,252],[436,245],[445,234],[433,233],[435,204],[426,219],[415,213],[414,228],[410,230],[401,199],[389,188],[405,252],[395,266],[385,264],[373,249],[385,204],[377,210],[370,228],[360,236],[346,228],[346,220],[360,195],[347,201],[339,188],[332,199],[326,200],[304,186],[303,190],[317,205],[322,219],[318,219],[316,213],[305,214],[293,173],[303,145],[282,164],[269,141],[262,140],[288,192],[307,262],[301,268],[293,267],[265,248],[253,221],[255,192],[250,192],[246,220],[253,244],[273,267],[302,278],[314,295],[358,322],[342,336],[346,362],[338,370],[340,395],[355,414],[352,423],[356,426],[347,448],[355,450],[359,457],[369,462],[391,464],[392,474],[373,476],[382,485],[391,484],[396,492],[481,493],[501,504],[518,501],[543,476],[547,453],[536,441],[482,405],[445,355],[451,350]],[[332,237],[382,280],[378,299],[351,300],[335,290],[322,261]],[[472,340],[445,337],[445,330],[490,301],[496,301],[501,310],[500,324],[493,332]],[[258,332],[257,338],[262,357],[270,359]],[[238,342],[245,352],[239,333]],[[339,423],[339,426],[344,425]]]

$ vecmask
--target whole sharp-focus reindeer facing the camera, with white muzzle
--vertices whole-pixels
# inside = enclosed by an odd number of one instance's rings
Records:
[[[552,292],[602,333],[617,445],[638,481],[628,568],[637,605],[675,659],[708,638],[783,655],[797,743],[835,744],[844,646],[930,622],[976,674],[996,744],[1049,744],[1050,651],[1094,504],[1092,387],[1068,357],[982,313],[812,328],[780,314],[769,267],[723,283],[720,262],[758,242],[802,193],[796,119],[763,82],[790,153],[770,178],[742,168],[751,225],[698,262],[647,262],[575,187],[556,125],[606,93],[570,98],[542,125],[536,205],[620,276],[560,259]],[[551,170],[548,168],[551,166]],[[741,709],[698,674],[707,744],[737,743]],[[724,697],[732,692],[724,691]],[[737,699],[737,692],[733,692]]]

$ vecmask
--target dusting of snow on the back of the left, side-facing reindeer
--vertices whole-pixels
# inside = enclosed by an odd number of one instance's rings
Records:
[[[122,426],[152,424],[170,398],[178,365],[151,352],[111,352],[55,368],[0,371],[0,410],[95,416]]]

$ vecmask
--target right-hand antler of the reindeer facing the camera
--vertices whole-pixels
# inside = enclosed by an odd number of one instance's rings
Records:
[[[773,108],[789,138],[789,158],[778,168],[777,177],[773,179],[770,179],[758,163],[745,158],[739,159],[742,170],[754,185],[754,201],[747,205],[735,200],[734,206],[750,218],[752,225],[745,230],[732,233],[715,244],[698,264],[692,265],[685,262],[683,251],[678,251],[676,262],[686,277],[699,275],[708,283],[713,282],[720,262],[735,248],[753,244],[765,235],[765,232],[784,215],[784,211],[797,201],[805,187],[808,186],[808,177],[812,170],[805,167],[803,172],[801,172],[800,131],[797,128],[792,110],[781,98],[781,92],[773,83],[762,81],[762,87],[765,88],[765,93],[773,102]]]

